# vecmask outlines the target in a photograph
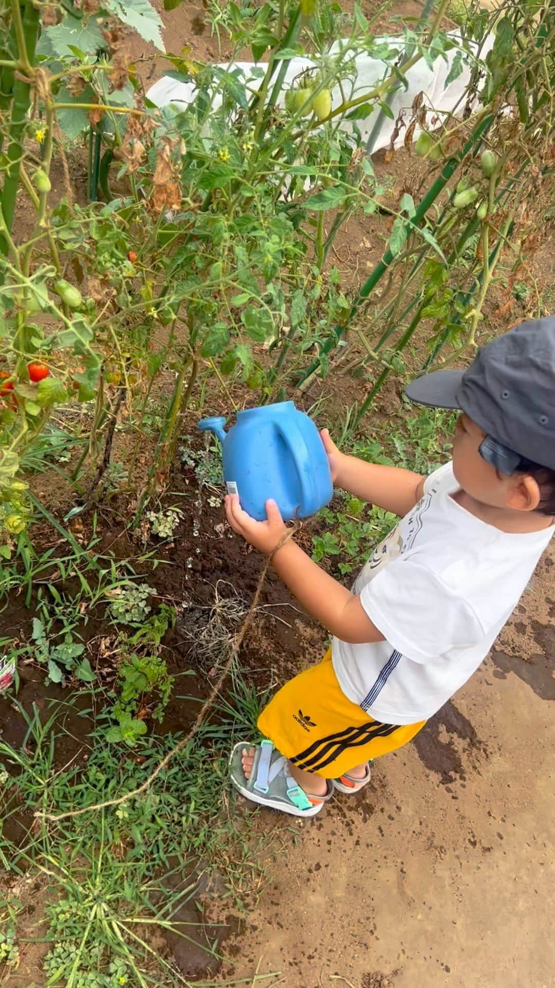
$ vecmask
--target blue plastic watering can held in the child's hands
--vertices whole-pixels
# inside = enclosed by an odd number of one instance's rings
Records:
[[[332,475],[320,434],[292,401],[237,412],[228,433],[226,419],[202,419],[198,428],[213,432],[222,444],[223,479],[228,494],[238,494],[244,510],[266,521],[273,498],[281,517],[309,518],[329,504]]]

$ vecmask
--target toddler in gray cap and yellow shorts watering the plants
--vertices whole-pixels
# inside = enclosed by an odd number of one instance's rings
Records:
[[[452,461],[429,477],[348,456],[322,433],[334,483],[402,519],[353,592],[283,542],[275,502],[256,522],[225,499],[232,529],[271,556],[333,637],[262,711],[264,740],[231,756],[244,796],[295,816],[319,813],[334,789],[357,792],[369,762],[407,744],[466,683],[555,531],[555,317],[493,340],[467,371],[418,378],[407,395],[460,411]]]

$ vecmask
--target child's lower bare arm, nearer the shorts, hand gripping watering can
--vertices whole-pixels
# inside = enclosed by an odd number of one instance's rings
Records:
[[[231,528],[261,552],[271,555],[287,530],[275,501],[268,501],[266,510],[268,521],[256,522],[243,511],[237,495],[225,499]],[[275,552],[273,565],[299,604],[330,634],[353,644],[383,641],[383,635],[366,616],[357,595],[320,569],[292,539]]]

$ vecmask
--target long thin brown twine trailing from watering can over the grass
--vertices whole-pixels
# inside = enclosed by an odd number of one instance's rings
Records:
[[[162,761],[156,766],[156,768],[150,774],[148,779],[146,779],[144,782],[138,785],[136,789],[132,789],[130,792],[125,792],[123,795],[118,796],[116,799],[106,799],[104,802],[93,803],[91,806],[83,806],[81,809],[68,810],[66,813],[44,813],[43,810],[37,810],[35,812],[35,817],[41,820],[49,820],[52,823],[57,823],[58,820],[67,820],[73,816],[81,816],[83,813],[92,813],[99,809],[107,809],[108,806],[120,806],[121,803],[127,802],[128,799],[133,799],[135,796],[140,795],[141,792],[144,792],[146,789],[148,789],[149,786],[152,784],[152,782],[154,782],[154,780],[160,775],[160,773],[164,771],[168,762],[172,758],[174,758],[175,755],[178,755],[180,751],[183,751],[186,745],[188,745],[189,742],[195,737],[200,724],[204,720],[208,710],[212,707],[214,700],[218,696],[223,684],[225,683],[225,680],[227,679],[233,660],[239,654],[239,649],[243,644],[243,640],[249,628],[249,624],[251,623],[253,615],[258,607],[258,602],[260,600],[262,588],[264,586],[264,582],[266,580],[272,560],[274,559],[276,553],[278,552],[278,549],[280,549],[285,544],[285,542],[287,542],[289,538],[291,538],[297,532],[299,528],[300,528],[299,523],[295,523],[290,529],[287,529],[283,533],[283,535],[281,535],[276,548],[273,549],[273,551],[266,559],[262,573],[260,574],[257,588],[255,590],[253,599],[251,601],[251,606],[247,612],[243,624],[241,625],[239,631],[237,632],[235,638],[233,639],[233,643],[230,648],[229,658],[227,659],[216,683],[212,687],[207,700],[205,700],[202,706],[200,707],[197,718],[191,730],[189,731],[189,734],[187,734],[186,737],[182,738],[181,741],[178,741],[177,745],[175,745],[175,747],[172,748],[172,750],[169,751],[168,754],[164,756]]]

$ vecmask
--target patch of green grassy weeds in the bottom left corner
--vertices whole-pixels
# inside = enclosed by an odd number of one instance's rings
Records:
[[[240,685],[236,689],[237,697],[244,694]],[[245,698],[248,705],[248,690]],[[245,710],[237,712],[233,702],[230,697],[220,711],[221,726],[204,725],[169,763],[163,780],[140,796],[81,816],[78,827],[71,820],[55,828],[40,823],[19,849],[0,837],[5,866],[21,873],[24,865],[43,874],[52,890],[46,908],[50,949],[44,959],[52,988],[186,984],[149,942],[155,930],[196,942],[196,929],[173,917],[196,894],[198,863],[229,875],[229,894],[241,905],[259,882],[260,871],[222,798],[228,745],[245,729]],[[0,810],[9,815],[17,801],[20,811],[39,805],[64,812],[119,795],[148,778],[177,740],[173,735],[150,737],[137,761],[124,748],[106,744],[105,721],[102,714],[87,763],[54,772],[56,714],[45,725],[40,725],[38,711],[27,717],[20,749],[0,741],[0,757],[18,771],[2,787]],[[183,879],[177,888],[168,884],[172,874]],[[10,945],[14,941],[10,934]],[[204,949],[216,957],[214,947]]]

